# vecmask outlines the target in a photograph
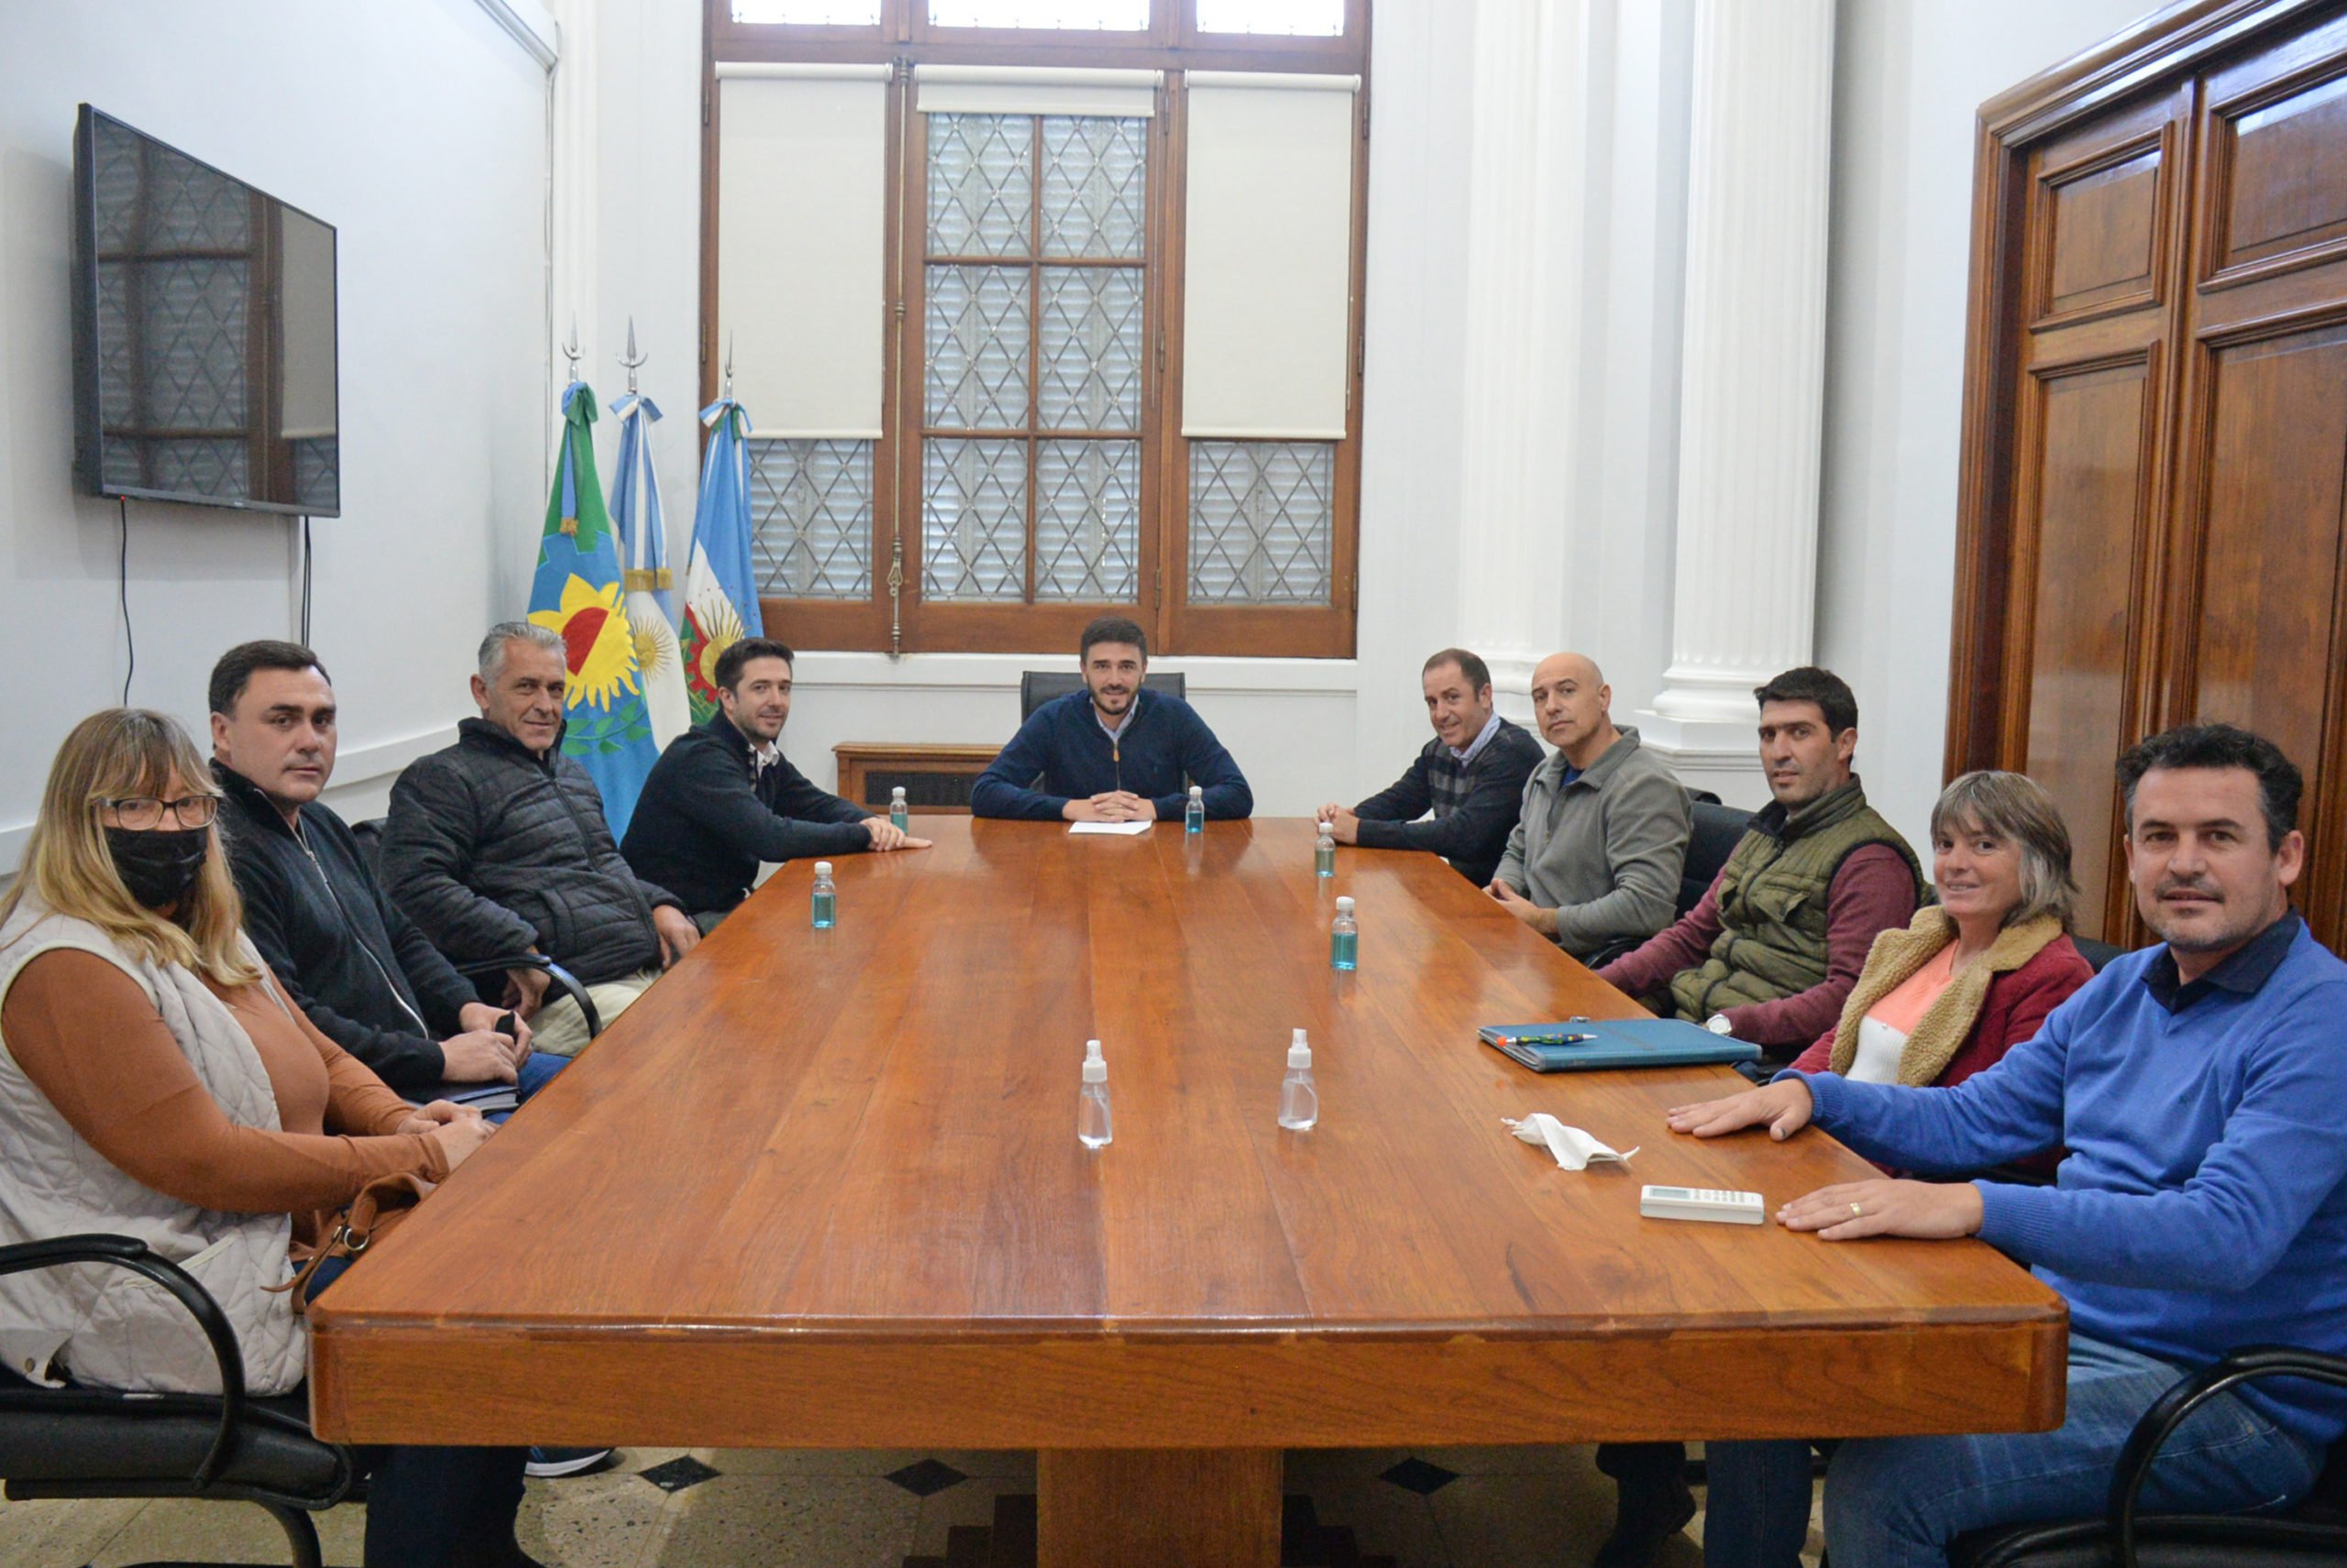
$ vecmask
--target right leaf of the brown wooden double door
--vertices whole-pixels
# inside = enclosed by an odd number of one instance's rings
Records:
[[[2162,718],[2246,725],[2307,772],[2298,904],[2335,948],[2347,930],[2347,16],[2209,73],[2199,148]]]

